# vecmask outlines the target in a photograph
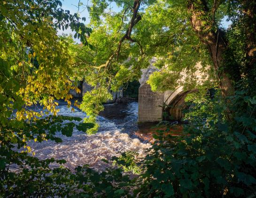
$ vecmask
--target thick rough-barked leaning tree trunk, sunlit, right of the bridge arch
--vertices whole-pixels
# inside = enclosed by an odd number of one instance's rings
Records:
[[[208,12],[208,8],[206,7],[206,4],[201,4],[201,6],[203,6],[203,8],[195,8],[194,1],[189,1],[188,11],[191,14],[191,24],[201,42],[205,44],[209,50],[219,80],[219,88],[222,96],[224,98],[232,96],[234,95],[234,85],[231,80],[233,73],[231,73],[232,70],[230,70],[230,68],[225,68],[224,66],[224,54],[225,51],[228,50],[227,44],[225,43],[224,33],[220,29],[217,29],[217,32],[214,32],[212,30],[212,24],[209,24],[209,21],[203,20],[203,18],[207,16],[205,13]]]

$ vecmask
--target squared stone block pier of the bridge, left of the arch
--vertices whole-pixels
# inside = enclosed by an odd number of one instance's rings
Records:
[[[163,93],[153,92],[150,85],[139,88],[138,122],[159,122],[162,120]]]

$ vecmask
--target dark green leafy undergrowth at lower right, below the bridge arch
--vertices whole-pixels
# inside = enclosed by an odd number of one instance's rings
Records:
[[[195,104],[180,136],[160,135],[143,161],[139,197],[253,197],[256,191],[256,96]],[[162,132],[163,133],[163,132]],[[139,185],[139,184],[138,184]]]

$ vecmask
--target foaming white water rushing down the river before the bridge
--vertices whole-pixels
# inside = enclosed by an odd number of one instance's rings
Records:
[[[60,109],[58,115],[81,118],[86,116],[85,113],[77,109],[71,112],[66,105],[60,105],[58,108]],[[137,138],[131,138],[125,132],[125,126],[131,129],[131,125],[134,125],[134,120],[137,118],[137,103],[131,103],[128,109],[130,109],[129,113],[126,112],[123,119],[126,121],[123,122],[123,125],[120,122],[121,127],[99,116],[101,127],[99,132],[94,135],[87,135],[74,127],[71,137],[66,137],[58,132],[57,136],[62,138],[62,143],[55,143],[51,140],[41,143],[31,142],[31,149],[39,159],[51,157],[65,159],[67,161],[65,166],[70,169],[74,169],[78,165],[89,164],[94,169],[103,170],[107,164],[101,161],[102,158],[111,159],[112,156],[119,155],[124,151],[137,151],[139,157],[143,157],[145,149],[149,148],[150,144],[143,143]]]

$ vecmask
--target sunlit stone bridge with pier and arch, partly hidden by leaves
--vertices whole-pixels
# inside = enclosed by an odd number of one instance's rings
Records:
[[[201,65],[197,64],[200,68]],[[147,69],[142,69],[139,88],[139,112],[138,122],[159,122],[163,120],[163,106],[168,105],[165,109],[173,120],[179,120],[184,115],[182,111],[186,108],[184,99],[188,93],[197,90],[184,91],[183,86],[178,86],[174,90],[165,92],[153,92],[150,85],[147,84],[148,77],[151,73],[157,71],[152,64]],[[181,73],[186,78],[186,73]],[[200,82],[204,80],[205,73],[201,73],[199,69],[194,73],[195,78]]]

